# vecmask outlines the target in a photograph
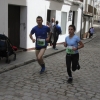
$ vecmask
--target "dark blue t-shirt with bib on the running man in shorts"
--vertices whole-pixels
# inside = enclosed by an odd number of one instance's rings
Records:
[[[50,28],[42,25],[42,27],[35,26],[31,30],[31,34],[35,33],[36,36],[36,48],[46,47],[47,33],[50,32]]]

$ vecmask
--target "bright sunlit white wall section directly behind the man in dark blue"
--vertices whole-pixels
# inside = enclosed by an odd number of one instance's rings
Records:
[[[43,5],[42,5],[43,4]],[[35,47],[35,43],[29,38],[31,29],[37,25],[36,17],[43,17],[43,24],[46,24],[47,9],[43,0],[28,0],[27,2],[27,48]],[[35,38],[35,36],[33,35]]]

